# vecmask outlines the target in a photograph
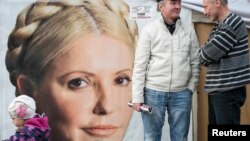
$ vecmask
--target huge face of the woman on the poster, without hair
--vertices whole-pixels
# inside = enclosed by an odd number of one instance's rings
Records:
[[[132,66],[131,51],[119,40],[89,35],[73,41],[49,66],[35,93],[52,137],[122,140],[132,114],[127,106]]]

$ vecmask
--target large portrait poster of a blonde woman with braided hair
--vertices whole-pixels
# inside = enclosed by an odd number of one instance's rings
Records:
[[[141,115],[127,103],[136,40],[159,16],[157,3],[46,1],[0,1],[0,139],[15,133],[8,106],[26,94],[48,116],[54,140],[143,140]],[[168,128],[166,117],[164,141]]]

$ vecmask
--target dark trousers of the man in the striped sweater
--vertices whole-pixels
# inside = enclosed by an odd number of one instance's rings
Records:
[[[208,95],[209,124],[240,124],[240,108],[246,100],[246,87]]]

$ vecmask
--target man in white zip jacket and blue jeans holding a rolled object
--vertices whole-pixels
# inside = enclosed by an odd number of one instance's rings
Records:
[[[142,112],[145,141],[160,141],[165,111],[171,141],[186,141],[192,95],[199,76],[199,45],[194,28],[180,19],[181,0],[157,0],[161,16],[139,38],[132,77],[132,103]]]

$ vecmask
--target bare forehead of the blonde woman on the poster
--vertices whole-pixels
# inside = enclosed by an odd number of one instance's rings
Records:
[[[123,42],[108,36],[81,37],[69,49],[55,58],[54,65],[62,67],[82,64],[92,68],[131,66],[133,54]],[[54,67],[56,67],[54,66]]]

